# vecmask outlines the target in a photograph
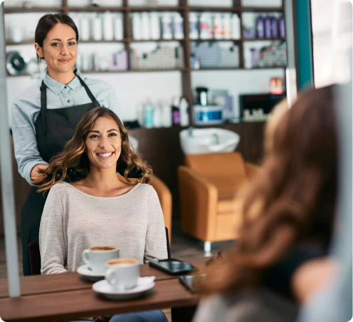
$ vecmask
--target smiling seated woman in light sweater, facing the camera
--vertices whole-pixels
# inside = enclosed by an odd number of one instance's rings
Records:
[[[121,166],[126,182],[117,175]],[[134,167],[143,173],[137,182],[128,178]],[[113,111],[104,107],[88,111],[63,152],[34,180],[40,192],[50,189],[39,231],[41,273],[77,270],[83,265],[83,250],[95,245],[118,245],[121,257],[141,264],[167,258],[157,193],[141,183],[150,181],[150,171]],[[71,182],[74,176],[80,180]]]

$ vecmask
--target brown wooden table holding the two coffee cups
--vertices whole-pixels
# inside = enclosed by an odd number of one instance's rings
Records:
[[[207,258],[187,259],[201,267]],[[111,301],[92,290],[92,282],[77,272],[58,275],[21,277],[22,296],[9,298],[7,280],[0,280],[0,319],[7,321],[54,321],[83,316],[110,315],[162,308],[196,305],[197,295],[191,294],[177,276],[167,275],[148,265],[141,266],[141,276],[156,276],[156,286],[144,297],[128,301]]]

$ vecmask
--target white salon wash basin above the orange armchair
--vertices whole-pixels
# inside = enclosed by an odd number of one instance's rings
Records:
[[[238,133],[227,129],[189,127],[179,133],[181,149],[185,155],[232,152],[239,144]]]

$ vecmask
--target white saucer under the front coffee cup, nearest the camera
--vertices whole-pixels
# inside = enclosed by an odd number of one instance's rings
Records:
[[[106,279],[102,281],[97,281],[92,285],[92,289],[102,294],[107,299],[134,299],[136,297],[141,297],[145,292],[154,288],[154,276],[150,277],[139,277],[137,280],[137,286],[131,288],[130,290],[117,290],[112,288]]]

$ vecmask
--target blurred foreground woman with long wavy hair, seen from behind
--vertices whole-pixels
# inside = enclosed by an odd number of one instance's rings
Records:
[[[245,195],[241,237],[210,266],[201,290],[214,295],[195,322],[295,321],[294,274],[327,254],[334,226],[335,120],[333,87],[310,90],[275,113],[263,167]]]

